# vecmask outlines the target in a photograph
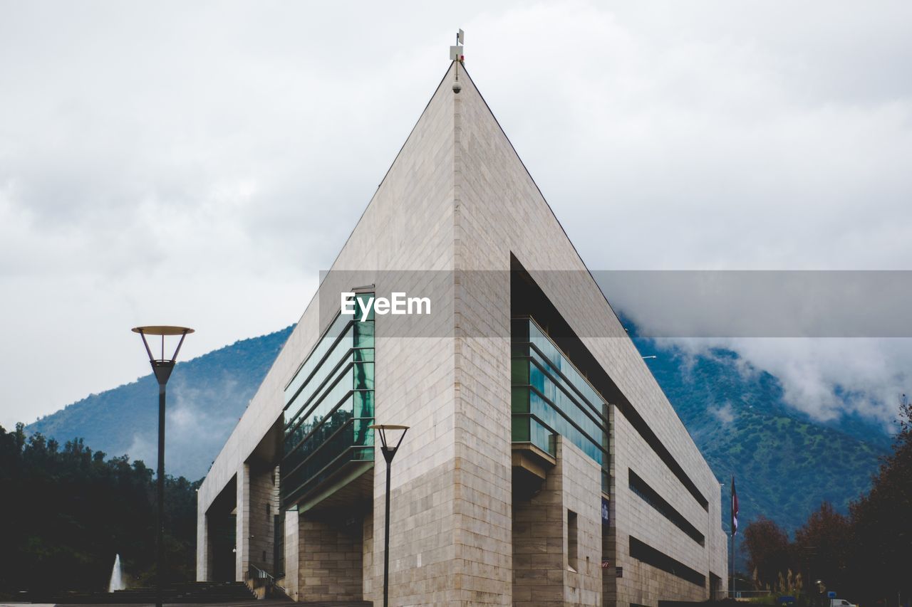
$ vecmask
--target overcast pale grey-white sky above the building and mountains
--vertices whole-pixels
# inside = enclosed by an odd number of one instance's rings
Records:
[[[457,27],[590,268],[912,269],[908,2],[0,0],[0,425],[145,375],[131,326],[187,359],[294,323]],[[912,368],[723,342],[821,418]]]

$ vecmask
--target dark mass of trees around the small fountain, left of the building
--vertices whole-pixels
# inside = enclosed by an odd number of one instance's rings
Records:
[[[199,482],[165,478],[171,581],[191,580]],[[107,587],[119,553],[130,579],[150,579],[155,559],[152,471],[107,458],[80,438],[57,441],[0,427],[0,599]]]

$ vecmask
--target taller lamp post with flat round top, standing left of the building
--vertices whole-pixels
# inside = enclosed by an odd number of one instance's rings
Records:
[[[158,557],[156,560],[155,573],[155,604],[161,607],[162,603],[162,581],[164,580],[165,565],[165,386],[168,385],[168,378],[171,377],[171,371],[174,370],[174,363],[177,360],[177,354],[181,351],[184,338],[193,333],[192,329],[185,326],[138,326],[132,329],[133,333],[140,334],[142,345],[146,346],[146,353],[149,355],[149,363],[152,365],[152,373],[159,382],[159,509],[158,520],[156,520],[157,535],[156,547]],[[161,358],[156,358],[149,347],[149,341],[146,335],[161,337]],[[171,358],[165,358],[165,337],[180,335],[181,339],[174,348],[174,354]]]

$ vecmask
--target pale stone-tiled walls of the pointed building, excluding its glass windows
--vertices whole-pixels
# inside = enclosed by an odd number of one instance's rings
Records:
[[[235,477],[238,579],[251,562],[271,564],[262,559],[264,551],[271,552],[264,548],[270,531],[261,525],[270,488],[254,452],[282,416],[285,385],[337,313],[321,301],[337,302],[337,293],[359,284],[374,283],[377,293],[388,293],[389,271],[432,271],[417,274],[420,290],[433,294],[435,306],[425,336],[402,336],[389,317],[376,321],[376,418],[411,427],[390,483],[390,603],[703,600],[708,587],[631,558],[628,546],[635,537],[707,578],[711,571],[724,580],[719,484],[463,69],[462,92],[452,93],[453,71],[323,279],[320,293],[330,296],[321,300],[318,293],[307,305],[213,463],[199,493],[197,576],[210,575],[206,513]],[[707,509],[617,403],[609,403],[607,528],[601,519],[600,467],[569,441],[558,440],[557,463],[541,492],[517,499],[507,272],[512,257],[679,462],[709,501]],[[380,602],[386,469],[379,452],[375,462],[372,511],[359,534],[306,512],[285,513],[282,583],[295,600]],[[703,546],[628,489],[628,469],[704,534]]]

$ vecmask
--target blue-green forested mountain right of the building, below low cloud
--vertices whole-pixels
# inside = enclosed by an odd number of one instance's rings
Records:
[[[634,342],[641,352],[658,352],[648,360],[650,370],[725,484],[726,529],[732,474],[741,529],[762,514],[793,531],[822,501],[845,512],[850,500],[870,489],[878,458],[889,451],[883,430],[860,424],[847,431],[843,423],[814,422],[785,404],[774,376],[745,370],[731,351],[692,357],[657,350],[648,340]]]

